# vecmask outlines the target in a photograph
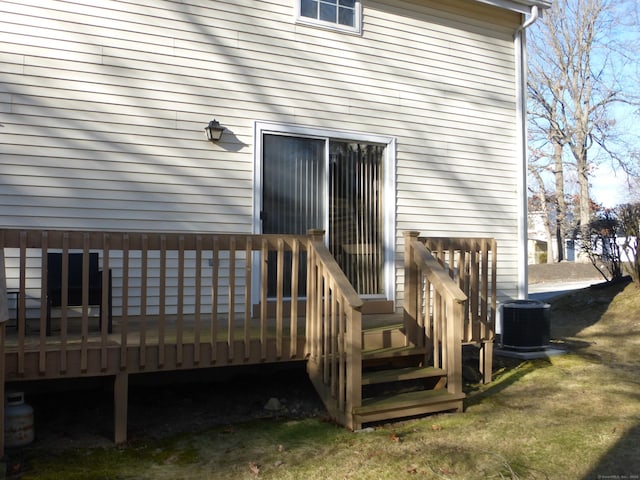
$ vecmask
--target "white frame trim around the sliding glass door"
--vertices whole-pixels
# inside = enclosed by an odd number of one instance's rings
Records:
[[[260,221],[260,210],[262,209],[262,138],[265,133],[276,135],[299,135],[304,137],[329,138],[334,140],[371,142],[386,145],[385,159],[383,165],[383,192],[385,197],[383,205],[383,250],[384,267],[382,278],[384,284],[385,297],[387,300],[395,301],[396,289],[396,145],[395,137],[379,134],[368,134],[349,130],[333,130],[323,127],[305,127],[275,122],[254,123],[254,159],[253,159],[253,233],[262,233],[262,222]],[[327,152],[328,155],[328,152]],[[328,218],[326,220],[328,222]],[[328,225],[325,226],[327,230]],[[325,235],[325,243],[328,236]],[[259,291],[255,288],[254,292]]]

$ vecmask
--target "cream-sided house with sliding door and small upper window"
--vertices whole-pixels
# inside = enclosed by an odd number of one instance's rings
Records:
[[[395,309],[405,231],[493,237],[498,299],[523,296],[523,36],[549,5],[0,2],[0,227],[322,229]]]

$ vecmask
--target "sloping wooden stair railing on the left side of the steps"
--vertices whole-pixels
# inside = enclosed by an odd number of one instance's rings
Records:
[[[310,231],[307,246],[307,369],[329,413],[353,429],[353,411],[362,405],[364,302],[323,235]]]

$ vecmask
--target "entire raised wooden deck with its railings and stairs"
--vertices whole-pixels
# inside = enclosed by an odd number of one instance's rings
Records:
[[[63,265],[55,309],[47,294],[52,251]],[[407,233],[402,311],[389,302],[363,301],[322,232],[0,230],[0,253],[6,264],[0,279],[15,292],[18,313],[8,325],[0,323],[0,388],[5,382],[111,377],[116,442],[127,437],[131,374],[304,361],[330,415],[351,429],[461,410],[463,343],[483,348],[480,368],[490,379],[496,296],[490,239]],[[101,284],[109,285],[100,291],[103,308],[89,304],[91,276],[84,266],[74,297],[82,301],[65,300],[72,298],[65,286],[71,253],[80,254],[83,265],[99,254]],[[424,380],[426,390],[388,394],[390,385],[409,379]],[[384,395],[371,389],[378,383]],[[3,448],[0,443],[0,454]]]

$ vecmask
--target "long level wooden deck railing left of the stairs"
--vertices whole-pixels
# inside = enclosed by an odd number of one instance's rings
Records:
[[[307,241],[304,235],[1,230],[17,313],[7,327],[7,381],[304,359],[298,272]],[[50,316],[49,252],[63,258],[62,305]],[[101,308],[98,319],[88,304],[88,267],[81,304],[67,305],[72,252],[82,254],[83,266],[99,254],[101,283],[111,283],[101,303],[112,305],[113,331],[110,309]],[[285,272],[292,279],[287,290]],[[273,282],[277,287],[268,292]]]

